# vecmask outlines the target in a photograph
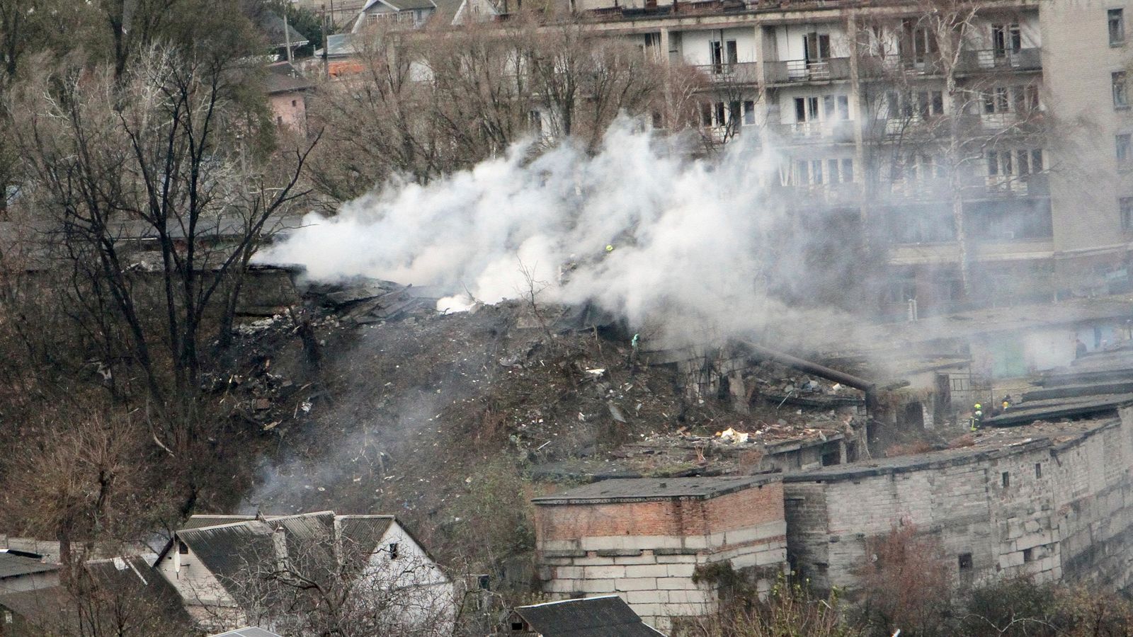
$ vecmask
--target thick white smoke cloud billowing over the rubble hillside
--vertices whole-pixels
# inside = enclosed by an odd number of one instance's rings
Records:
[[[563,145],[529,161],[516,147],[426,186],[394,180],[337,216],[309,215],[263,261],[323,281],[467,289],[485,303],[534,280],[546,300],[593,299],[636,328],[699,342],[789,317],[766,294],[768,272],[794,267],[772,231],[784,218],[766,187],[775,158],[739,143],[713,161],[670,150],[619,122],[595,156]]]

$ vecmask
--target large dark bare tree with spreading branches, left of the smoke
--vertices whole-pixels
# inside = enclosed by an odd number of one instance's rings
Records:
[[[224,59],[154,48],[122,78],[63,67],[7,103],[25,205],[50,221],[80,321],[125,336],[153,440],[188,472],[186,510],[207,436],[202,343],[230,325],[248,260],[306,194],[309,145],[280,163],[249,147],[258,128],[237,95],[244,78]]]

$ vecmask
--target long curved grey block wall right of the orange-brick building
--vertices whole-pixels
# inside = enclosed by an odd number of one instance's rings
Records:
[[[998,449],[891,458],[791,474],[793,567],[828,589],[853,589],[869,538],[913,525],[935,537],[957,581],[1133,581],[1131,414],[1065,438]]]

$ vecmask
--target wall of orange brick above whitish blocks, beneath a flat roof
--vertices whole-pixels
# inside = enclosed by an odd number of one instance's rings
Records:
[[[766,591],[786,563],[783,485],[708,499],[536,507],[539,578],[556,598],[620,595],[661,630],[713,612],[717,594],[696,568],[727,560]]]

